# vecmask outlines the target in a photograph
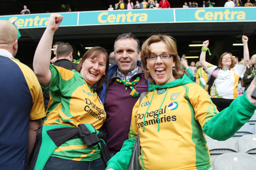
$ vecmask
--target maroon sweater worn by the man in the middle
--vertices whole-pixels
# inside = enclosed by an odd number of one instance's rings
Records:
[[[107,114],[104,122],[107,133],[106,145],[109,151],[114,154],[121,150],[123,142],[128,139],[131,112],[134,104],[139,99],[141,92],[148,90],[148,83],[144,78],[144,73],[138,73],[130,79],[130,82],[133,82],[138,76],[141,76],[139,82],[134,85],[136,91],[139,92],[138,97],[131,96],[131,89],[129,87],[126,88],[123,83],[115,82],[115,78],[118,78],[115,75],[110,79],[104,104]]]

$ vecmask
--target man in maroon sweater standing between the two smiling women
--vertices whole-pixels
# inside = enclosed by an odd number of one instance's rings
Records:
[[[107,133],[106,144],[112,155],[128,139],[134,104],[141,92],[148,90],[148,81],[144,78],[141,61],[138,60],[141,48],[137,37],[132,33],[119,35],[115,40],[114,53],[117,64],[109,69],[109,87],[98,92],[107,114],[104,128]],[[128,82],[134,82],[135,79],[138,82],[127,86]]]

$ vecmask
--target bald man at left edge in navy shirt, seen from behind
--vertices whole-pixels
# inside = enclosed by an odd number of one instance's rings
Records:
[[[26,169],[42,125],[43,93],[33,71],[14,59],[18,31],[0,20],[0,169]]]

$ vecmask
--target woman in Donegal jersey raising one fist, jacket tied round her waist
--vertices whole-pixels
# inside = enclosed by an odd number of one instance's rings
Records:
[[[106,113],[95,90],[101,89],[108,75],[108,53],[100,46],[93,47],[73,70],[49,65],[49,42],[62,19],[61,15],[51,14],[35,52],[35,74],[51,98],[36,138],[42,145],[35,146],[30,169],[89,169],[89,165],[104,169],[110,158],[109,154],[101,155],[106,148],[100,142],[105,135],[101,127]]]

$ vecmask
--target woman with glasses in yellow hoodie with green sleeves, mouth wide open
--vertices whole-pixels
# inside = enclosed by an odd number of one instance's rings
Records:
[[[228,139],[253,116],[256,100],[250,95],[256,79],[246,94],[218,113],[207,92],[182,72],[172,37],[151,36],[141,56],[149,92],[134,105],[129,139],[107,169],[127,168],[137,135],[141,169],[211,169],[204,133]]]

